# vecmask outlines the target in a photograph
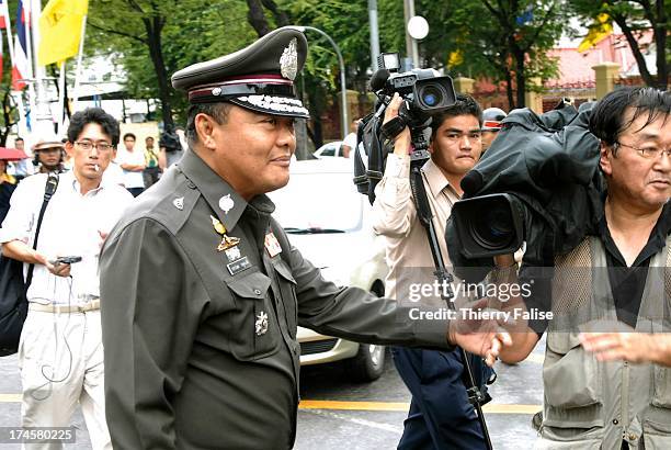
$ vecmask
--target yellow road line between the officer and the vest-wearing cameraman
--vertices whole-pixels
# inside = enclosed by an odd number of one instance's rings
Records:
[[[303,400],[299,409],[341,409],[341,410],[398,410],[407,412],[410,407],[405,402],[343,402],[329,400]],[[487,414],[536,414],[541,405],[500,405],[488,404],[482,407]]]

